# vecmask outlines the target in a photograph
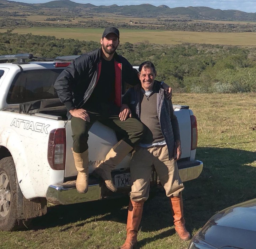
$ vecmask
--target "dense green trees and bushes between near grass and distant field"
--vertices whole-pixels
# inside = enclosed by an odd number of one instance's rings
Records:
[[[80,55],[100,47],[95,41],[57,39],[54,36],[0,33],[0,54],[32,53],[55,58]],[[133,65],[152,61],[157,80],[164,80],[175,92],[256,92],[256,48],[228,45],[160,45],[147,41],[120,44],[117,52]],[[3,61],[1,61],[3,62]]]

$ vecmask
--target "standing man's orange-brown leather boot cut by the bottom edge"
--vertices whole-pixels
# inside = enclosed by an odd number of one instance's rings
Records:
[[[141,223],[143,204],[144,201],[135,202],[130,200],[129,202],[126,228],[127,236],[121,249],[133,249],[134,245],[137,243],[137,234],[139,224]]]

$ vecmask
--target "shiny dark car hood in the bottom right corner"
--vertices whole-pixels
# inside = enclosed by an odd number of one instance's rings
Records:
[[[256,199],[228,207],[215,214],[198,233],[197,239],[216,248],[255,248]]]

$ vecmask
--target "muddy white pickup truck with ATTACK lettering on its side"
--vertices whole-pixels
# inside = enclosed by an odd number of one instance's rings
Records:
[[[76,191],[70,121],[53,87],[70,62],[25,61],[35,58],[31,54],[0,56],[0,60],[15,59],[0,64],[0,230],[5,231],[17,229],[22,220],[45,214],[47,201],[93,201],[118,197],[130,189],[128,155],[112,172],[116,193],[91,174],[88,192]],[[179,173],[182,181],[188,181],[197,178],[203,167],[195,160],[197,122],[188,106],[173,107],[183,148]],[[115,143],[113,130],[94,123],[89,131],[89,173]],[[155,172],[151,180],[152,185],[158,185]]]

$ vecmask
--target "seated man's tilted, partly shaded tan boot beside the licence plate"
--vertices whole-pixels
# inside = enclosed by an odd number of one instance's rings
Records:
[[[105,160],[101,161],[94,169],[94,173],[99,175],[105,181],[106,187],[113,192],[116,192],[117,188],[112,181],[111,170],[114,169],[132,149],[133,147],[124,140],[120,140],[109,153],[107,153]]]

